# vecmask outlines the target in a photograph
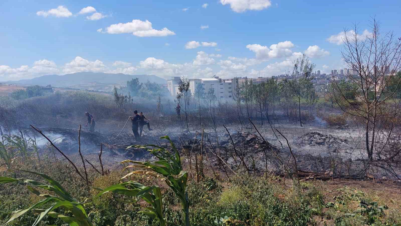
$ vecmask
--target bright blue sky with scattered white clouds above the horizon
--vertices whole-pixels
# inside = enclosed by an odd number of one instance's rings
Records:
[[[316,70],[344,67],[344,27],[401,37],[401,1],[0,2],[0,81],[94,71],[160,77],[271,76],[306,53]],[[203,28],[201,28],[203,26]]]

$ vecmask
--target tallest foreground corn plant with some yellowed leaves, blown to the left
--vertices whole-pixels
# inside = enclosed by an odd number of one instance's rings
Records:
[[[185,225],[189,226],[189,200],[188,200],[188,192],[186,192],[186,181],[188,179],[188,172],[182,170],[180,154],[178,153],[174,143],[170,140],[168,136],[162,136],[160,139],[166,139],[170,141],[171,147],[174,151],[174,155],[171,154],[168,150],[163,147],[159,147],[157,145],[132,145],[127,147],[130,149],[132,147],[146,149],[150,151],[150,153],[156,156],[159,160],[154,161],[152,163],[148,162],[140,162],[140,161],[132,161],[125,160],[121,163],[133,163],[132,165],[128,165],[125,169],[130,169],[132,167],[140,167],[145,170],[137,170],[132,171],[125,175],[128,177],[135,173],[141,174],[149,174],[150,171],[156,173],[157,177],[163,177],[164,181],[166,181],[167,185],[174,191],[174,193],[180,198],[182,208],[184,209],[185,214]],[[155,149],[148,149],[148,147],[154,147]]]

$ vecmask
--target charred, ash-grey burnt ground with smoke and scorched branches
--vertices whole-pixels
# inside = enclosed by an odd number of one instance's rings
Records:
[[[78,119],[66,121],[63,128],[41,128],[45,134],[48,134],[67,156],[72,158],[77,155],[77,134]],[[163,118],[156,118],[151,121],[151,127],[154,129],[148,131],[144,128],[141,141],[136,141],[132,135],[131,124],[128,122],[123,132],[119,134],[124,126],[122,121],[104,121],[97,122],[96,132],[90,133],[87,128],[81,130],[81,151],[92,161],[97,162],[97,154],[100,150],[99,143],[103,146],[103,163],[108,167],[118,166],[118,162],[124,159],[150,160],[151,156],[146,152],[139,150],[126,151],[125,147],[136,144],[155,144],[168,145],[166,140],[159,139],[160,136],[168,135],[174,141],[177,147],[189,146],[192,149],[192,143],[196,136],[197,143],[194,145],[194,151],[199,149],[199,140],[201,139],[201,128],[196,123],[189,122],[189,131],[186,130],[185,123],[165,122]],[[289,122],[281,118],[271,121],[271,125],[264,121],[253,120],[259,133],[251,123],[243,122],[242,129],[239,123],[227,123],[225,126],[230,132],[231,138],[223,124],[218,124],[216,131],[213,125],[205,126],[204,141],[205,151],[209,153],[211,165],[218,166],[221,163],[217,157],[210,153],[219,151],[224,161],[234,170],[240,168],[242,156],[249,170],[263,174],[266,171],[273,171],[277,174],[285,174],[283,165],[294,169],[294,161],[290,158],[290,149],[286,139],[277,131],[280,131],[289,141],[290,147],[296,157],[298,170],[325,173],[327,175],[355,175],[360,174],[361,170],[365,174],[373,175],[375,178],[397,179],[391,173],[381,167],[369,167],[363,169],[364,161],[367,155],[363,148],[364,134],[357,126],[329,127],[326,123],[316,118],[303,122],[301,127],[299,122]],[[30,136],[35,136],[38,144],[44,145],[44,140],[31,128],[26,128],[25,132]],[[117,136],[118,135],[118,136]],[[275,147],[275,151],[267,150],[260,145],[260,140],[265,139],[269,144]],[[233,145],[235,152],[233,152]],[[245,142],[245,146],[244,146]],[[209,149],[210,148],[210,149]],[[43,150],[46,148],[43,147]],[[46,152],[46,151],[44,151]],[[49,151],[47,151],[49,152]],[[231,152],[231,154],[229,154]],[[56,153],[57,159],[62,159],[61,155]],[[54,154],[51,154],[54,155]],[[92,156],[93,155],[93,156]],[[183,153],[184,155],[184,153]],[[53,158],[54,159],[54,158]],[[192,159],[192,161],[194,161]],[[79,161],[79,158],[77,159]],[[266,164],[267,163],[267,164]],[[79,163],[78,163],[79,164]],[[95,163],[94,163],[95,164]],[[401,177],[401,172],[395,169],[395,174]]]

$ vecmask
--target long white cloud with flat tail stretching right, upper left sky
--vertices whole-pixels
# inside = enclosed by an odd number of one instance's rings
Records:
[[[99,31],[99,30],[98,30]],[[161,37],[168,35],[175,35],[173,31],[163,28],[162,30],[156,30],[152,28],[152,23],[148,20],[132,20],[128,23],[111,24],[106,28],[106,33],[109,34],[122,34],[132,33],[138,37]]]

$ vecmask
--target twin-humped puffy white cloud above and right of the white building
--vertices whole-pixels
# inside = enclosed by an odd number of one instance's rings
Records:
[[[255,53],[256,59],[269,59],[291,56],[292,51],[290,48],[294,47],[294,44],[290,41],[284,41],[273,44],[270,47],[259,44],[247,45],[246,47]]]

